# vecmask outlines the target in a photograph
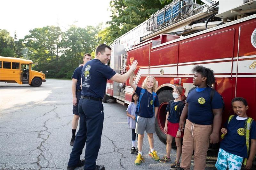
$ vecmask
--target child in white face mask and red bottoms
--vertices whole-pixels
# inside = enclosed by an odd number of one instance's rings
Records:
[[[180,168],[181,138],[183,138],[183,132],[179,129],[179,121],[181,112],[185,106],[186,96],[184,93],[185,89],[182,86],[176,86],[172,91],[174,100],[169,101],[166,107],[167,114],[164,126],[164,131],[166,132],[166,155],[159,162],[165,163],[171,161],[172,139],[175,138],[177,146],[176,160],[170,169]]]

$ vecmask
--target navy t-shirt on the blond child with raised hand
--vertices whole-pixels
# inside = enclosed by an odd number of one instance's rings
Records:
[[[138,87],[136,88],[136,93],[140,97],[140,91],[142,88]],[[149,97],[150,96],[150,97]],[[148,107],[149,104],[149,107]],[[156,96],[154,106],[159,106],[158,97]],[[139,113],[137,113],[140,117],[146,117],[151,118],[154,116],[153,111],[153,94],[149,93],[147,89],[145,89],[145,93],[143,94],[141,100],[140,100],[140,110]]]

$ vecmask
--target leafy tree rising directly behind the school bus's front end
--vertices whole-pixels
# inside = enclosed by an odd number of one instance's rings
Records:
[[[59,71],[60,57],[60,27],[46,26],[35,28],[25,36],[25,46],[28,48],[27,57],[37,63],[36,70],[49,70],[49,76],[54,76]]]

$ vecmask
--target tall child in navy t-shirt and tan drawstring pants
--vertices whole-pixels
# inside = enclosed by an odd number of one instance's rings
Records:
[[[194,150],[194,169],[205,169],[209,142],[219,142],[223,102],[220,94],[210,87],[215,83],[213,71],[203,66],[195,66],[192,71],[195,73],[193,85],[196,88],[188,92],[187,102],[180,116],[180,130],[184,130],[180,167],[190,169]]]

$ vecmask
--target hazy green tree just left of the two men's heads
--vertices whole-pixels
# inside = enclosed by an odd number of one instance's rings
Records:
[[[57,77],[64,75],[66,78],[71,78],[75,68],[83,62],[84,54],[92,53],[95,47],[98,46],[96,34],[100,31],[101,26],[102,24],[96,27],[79,28],[71,25],[63,33],[61,40],[63,55],[60,61],[63,67],[56,74]]]

